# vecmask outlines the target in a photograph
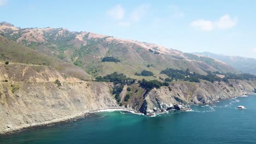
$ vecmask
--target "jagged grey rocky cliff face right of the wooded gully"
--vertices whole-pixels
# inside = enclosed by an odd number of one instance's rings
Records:
[[[212,104],[214,101],[255,92],[256,81],[229,80],[225,82],[172,82],[169,87],[152,89],[140,109],[142,113],[166,110],[173,104]]]

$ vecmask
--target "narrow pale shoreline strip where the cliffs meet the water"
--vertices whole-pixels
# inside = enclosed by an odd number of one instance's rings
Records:
[[[233,98],[228,98],[228,99],[234,99],[234,98],[237,98],[237,97],[248,97],[249,95],[253,95],[253,94],[256,94],[256,93],[248,93],[246,95],[237,95]],[[222,100],[225,100],[225,99],[222,99]],[[220,100],[220,101],[222,101],[222,100]],[[212,101],[212,103],[217,103],[218,101]],[[193,105],[196,105],[196,104],[193,104]],[[207,104],[205,104],[205,105],[207,105]],[[58,124],[58,123],[62,123],[62,122],[69,122],[69,121],[72,121],[74,119],[87,117],[87,115],[90,115],[90,113],[113,112],[113,111],[127,111],[127,112],[131,112],[133,114],[136,114],[136,115],[144,115],[144,113],[138,112],[138,111],[133,110],[133,109],[127,109],[125,107],[120,107],[120,106],[118,106],[118,107],[108,107],[106,109],[85,110],[84,112],[78,113],[77,115],[74,115],[74,116],[68,116],[68,117],[53,119],[53,120],[48,121],[48,122],[27,124],[27,125],[23,125],[23,126],[20,126],[20,127],[13,128],[13,129],[7,129],[5,131],[0,131],[0,137],[5,136],[5,135],[14,134],[14,133],[20,133],[21,131],[24,131],[24,130],[27,130],[27,129],[30,129],[30,128],[43,127],[45,125],[54,125],[54,124]],[[155,114],[156,113],[154,113],[154,115]],[[149,117],[154,117],[154,116],[149,116]]]

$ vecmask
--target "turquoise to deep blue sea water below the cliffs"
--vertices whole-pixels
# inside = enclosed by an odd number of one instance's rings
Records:
[[[235,109],[238,105],[246,109]],[[156,117],[100,112],[2,136],[0,143],[256,143],[256,95],[191,108]]]

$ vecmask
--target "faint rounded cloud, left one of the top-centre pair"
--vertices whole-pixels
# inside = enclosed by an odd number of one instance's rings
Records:
[[[125,9],[120,4],[117,4],[115,7],[107,10],[106,14],[113,17],[113,19],[122,20],[125,16]]]

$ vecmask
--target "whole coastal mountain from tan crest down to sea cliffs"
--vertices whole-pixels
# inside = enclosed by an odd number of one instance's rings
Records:
[[[6,22],[0,34],[0,134],[98,110],[152,116],[256,91],[254,75],[156,44]]]

